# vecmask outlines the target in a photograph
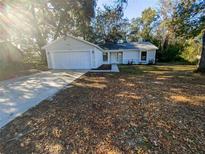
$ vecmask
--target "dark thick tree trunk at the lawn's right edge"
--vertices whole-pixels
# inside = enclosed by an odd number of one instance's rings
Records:
[[[205,31],[202,36],[202,52],[197,72],[205,72]]]

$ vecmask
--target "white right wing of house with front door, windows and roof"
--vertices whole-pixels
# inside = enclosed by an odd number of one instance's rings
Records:
[[[103,63],[105,64],[154,64],[158,49],[150,42],[105,44],[101,47],[104,49]]]

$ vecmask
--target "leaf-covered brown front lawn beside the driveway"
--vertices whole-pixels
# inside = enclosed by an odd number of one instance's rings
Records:
[[[0,131],[0,153],[205,153],[205,76],[191,65],[87,73]]]

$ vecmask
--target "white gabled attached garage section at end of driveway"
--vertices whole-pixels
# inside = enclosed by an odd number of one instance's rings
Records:
[[[103,49],[73,36],[58,39],[43,49],[50,69],[92,69],[103,63]]]

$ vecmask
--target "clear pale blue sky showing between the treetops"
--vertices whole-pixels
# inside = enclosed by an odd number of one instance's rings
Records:
[[[115,0],[98,0],[97,7],[103,8],[103,4],[112,4]],[[157,8],[158,0],[128,0],[125,9],[125,17],[128,19],[140,17],[144,9],[148,7]]]

